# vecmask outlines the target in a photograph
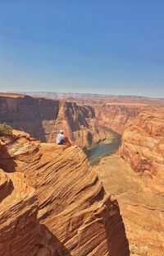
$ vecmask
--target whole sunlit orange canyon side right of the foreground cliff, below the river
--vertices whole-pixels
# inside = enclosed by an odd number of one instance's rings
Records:
[[[95,167],[117,199],[131,255],[164,252],[164,108],[144,109],[126,123],[116,155]]]

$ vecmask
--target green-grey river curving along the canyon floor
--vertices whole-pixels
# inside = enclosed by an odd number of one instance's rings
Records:
[[[120,142],[121,135],[112,131],[103,142],[84,152],[88,156],[91,165],[98,165],[101,158],[117,151]]]

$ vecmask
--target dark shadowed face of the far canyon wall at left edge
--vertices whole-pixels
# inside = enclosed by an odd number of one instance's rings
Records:
[[[46,142],[59,111],[58,100],[24,95],[0,95],[0,122]]]

